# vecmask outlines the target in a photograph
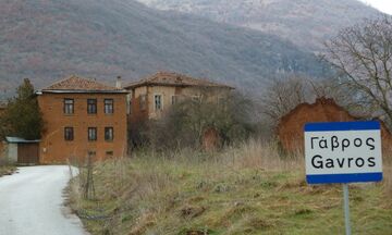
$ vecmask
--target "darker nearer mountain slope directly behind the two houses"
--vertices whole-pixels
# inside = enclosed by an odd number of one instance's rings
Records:
[[[277,36],[131,0],[2,0],[0,86],[39,86],[77,73],[135,79],[157,70],[258,90],[275,73],[322,76],[311,53]],[[12,91],[12,89],[11,89]]]

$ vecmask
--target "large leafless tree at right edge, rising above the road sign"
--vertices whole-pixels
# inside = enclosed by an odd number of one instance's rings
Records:
[[[324,59],[341,72],[352,98],[392,122],[392,18],[383,15],[347,27],[326,44]],[[354,95],[353,95],[354,94]]]

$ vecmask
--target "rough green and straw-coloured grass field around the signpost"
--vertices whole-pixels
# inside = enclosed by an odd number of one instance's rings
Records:
[[[81,197],[82,172],[70,203],[94,235],[344,234],[341,186],[308,186],[303,158],[278,152],[256,140],[212,153],[138,151],[96,164],[94,200]],[[354,234],[392,233],[391,173],[350,186]]]

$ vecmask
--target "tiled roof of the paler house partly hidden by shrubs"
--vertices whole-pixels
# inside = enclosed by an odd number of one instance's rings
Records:
[[[158,72],[152,76],[147,78],[140,79],[135,83],[131,83],[125,86],[126,89],[128,88],[136,88],[140,86],[148,86],[148,85],[161,85],[161,86],[200,86],[200,87],[225,87],[231,88],[233,87],[215,83],[207,79],[201,78],[194,78],[187,75],[172,73],[172,72]]]

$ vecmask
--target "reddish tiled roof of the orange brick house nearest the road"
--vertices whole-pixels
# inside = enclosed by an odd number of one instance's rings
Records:
[[[72,75],[65,79],[53,83],[52,85],[44,88],[41,91],[122,92],[123,89],[108,86],[97,82],[96,79]]]

